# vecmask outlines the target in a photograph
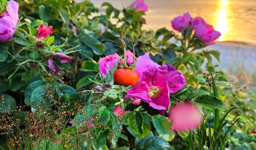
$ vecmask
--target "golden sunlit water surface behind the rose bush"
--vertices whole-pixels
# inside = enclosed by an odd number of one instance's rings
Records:
[[[76,0],[81,2],[83,0]],[[134,0],[91,0],[95,7],[110,2],[117,9],[132,4]],[[222,33],[219,41],[244,42],[256,46],[256,0],[145,0],[144,29],[157,30],[166,27],[172,30],[170,21],[189,12],[192,17],[201,16]],[[124,7],[123,7],[124,6]],[[104,13],[104,9],[101,9]]]

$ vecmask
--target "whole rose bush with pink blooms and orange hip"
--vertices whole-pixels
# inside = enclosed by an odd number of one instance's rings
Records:
[[[203,148],[208,139],[200,134],[212,128],[206,127],[207,114],[226,107],[216,94],[218,73],[195,77],[205,58],[209,64],[211,55],[219,58],[218,51],[194,51],[215,44],[220,33],[189,13],[171,21],[182,37],[166,28],[145,31],[144,0],[123,11],[107,2],[102,7],[106,15],[94,18],[99,9],[88,1],[10,0],[3,9],[0,133],[8,135],[7,146],[171,149],[178,134],[199,135]],[[17,95],[22,101],[15,108]],[[217,117],[213,128],[220,133],[226,123]],[[211,139],[225,141],[216,132]],[[193,149],[194,139],[189,141]]]

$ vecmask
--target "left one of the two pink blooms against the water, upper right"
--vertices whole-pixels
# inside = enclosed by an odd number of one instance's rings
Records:
[[[191,15],[189,13],[184,13],[183,16],[178,16],[171,21],[172,27],[176,31],[185,30],[187,27],[191,26]]]

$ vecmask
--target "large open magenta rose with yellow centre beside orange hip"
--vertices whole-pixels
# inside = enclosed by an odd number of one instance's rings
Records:
[[[141,99],[163,115],[170,104],[170,93],[182,89],[186,79],[174,66],[148,66],[139,77],[139,82],[130,88],[126,97]]]

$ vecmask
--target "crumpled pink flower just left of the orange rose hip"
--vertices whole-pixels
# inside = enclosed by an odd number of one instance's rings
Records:
[[[106,74],[115,66],[115,63],[118,62],[120,56],[117,53],[113,55],[107,55],[99,60],[99,70],[101,75],[105,77]]]

